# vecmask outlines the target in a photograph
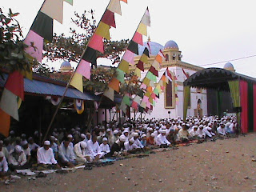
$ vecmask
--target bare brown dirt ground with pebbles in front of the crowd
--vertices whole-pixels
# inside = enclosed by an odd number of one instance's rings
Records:
[[[218,139],[93,170],[48,174],[36,180],[22,176],[9,186],[0,183],[0,191],[256,191],[255,147],[256,134]]]

